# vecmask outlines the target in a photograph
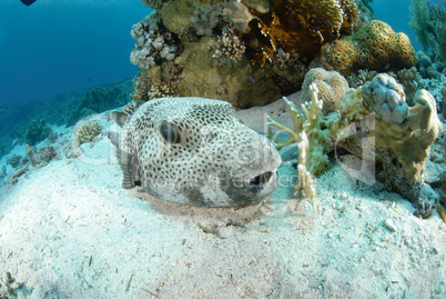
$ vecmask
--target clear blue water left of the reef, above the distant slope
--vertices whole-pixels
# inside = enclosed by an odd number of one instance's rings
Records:
[[[0,1],[0,106],[135,76],[130,30],[149,12],[136,0]]]

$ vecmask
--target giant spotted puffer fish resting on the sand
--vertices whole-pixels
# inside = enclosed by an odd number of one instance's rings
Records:
[[[277,188],[278,152],[237,120],[225,101],[148,101],[126,119],[112,142],[123,172],[122,187],[141,186],[165,201],[231,207]]]

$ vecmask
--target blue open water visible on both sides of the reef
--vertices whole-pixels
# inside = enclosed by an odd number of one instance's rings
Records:
[[[403,31],[419,49],[408,26],[409,0],[371,3],[376,19]],[[0,3],[0,157],[21,140],[31,120],[74,124],[75,101],[94,87],[132,79],[132,26],[150,13],[138,0],[40,0],[30,7],[19,0]],[[131,100],[131,82],[120,107]],[[72,92],[68,94],[68,92]],[[105,108],[104,108],[105,109]],[[99,111],[97,111],[99,112]]]

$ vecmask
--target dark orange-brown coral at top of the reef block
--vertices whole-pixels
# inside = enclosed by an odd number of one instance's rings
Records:
[[[262,64],[274,60],[280,48],[312,59],[324,43],[338,39],[342,30],[351,27],[337,0],[280,0],[270,4],[270,13],[250,23],[259,41],[254,61]]]

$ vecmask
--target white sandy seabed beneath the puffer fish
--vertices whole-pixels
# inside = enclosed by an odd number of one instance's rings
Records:
[[[107,137],[67,158],[71,133],[59,159],[0,189],[0,275],[26,283],[19,298],[446,298],[438,215],[416,218],[337,163],[317,180],[320,215],[293,183],[194,208],[121,189]]]

